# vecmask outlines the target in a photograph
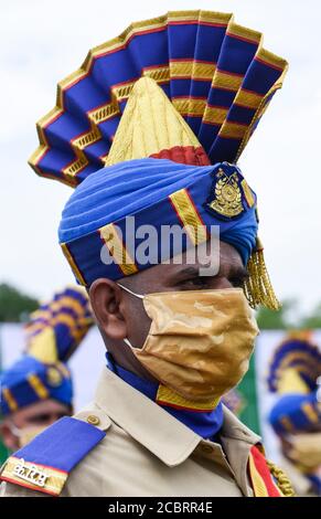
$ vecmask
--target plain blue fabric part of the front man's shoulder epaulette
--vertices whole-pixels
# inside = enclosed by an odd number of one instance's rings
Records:
[[[94,425],[64,416],[13,456],[69,473],[105,436]]]

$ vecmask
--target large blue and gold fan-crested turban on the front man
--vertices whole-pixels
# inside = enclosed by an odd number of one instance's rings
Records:
[[[248,267],[250,304],[278,306],[257,240],[256,195],[233,163],[287,70],[261,40],[231,14],[169,12],[131,24],[60,83],[30,163],[76,187],[60,242],[79,284],[149,267],[136,257],[142,225],[186,229],[185,248],[218,225]],[[135,216],[130,244],[127,216]],[[101,260],[103,246],[113,263]]]

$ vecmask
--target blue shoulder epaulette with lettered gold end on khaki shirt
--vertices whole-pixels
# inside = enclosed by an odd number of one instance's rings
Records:
[[[68,474],[105,436],[100,428],[65,416],[10,456],[0,479],[58,496]]]

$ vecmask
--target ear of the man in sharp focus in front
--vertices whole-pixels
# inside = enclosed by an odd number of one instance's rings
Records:
[[[111,279],[96,279],[89,288],[90,304],[98,326],[111,340],[127,337],[127,324],[121,313],[124,293]]]

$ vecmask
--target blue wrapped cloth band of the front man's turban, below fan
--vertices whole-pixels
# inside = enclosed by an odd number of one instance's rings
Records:
[[[61,243],[67,245],[68,253],[86,285],[90,285],[98,277],[111,279],[124,277],[119,265],[116,263],[106,265],[101,262],[100,252],[104,242],[99,229],[108,223],[116,224],[121,230],[124,245],[128,248],[124,234],[126,216],[133,215],[135,230],[145,224],[153,225],[160,240],[162,225],[182,226],[169,198],[182,189],[188,191],[208,233],[211,225],[218,225],[221,240],[233,245],[246,265],[256,242],[255,204],[249,206],[243,193],[243,211],[236,218],[227,219],[208,211],[206,201],[208,197],[214,198],[215,173],[218,168],[224,168],[227,174],[237,170],[239,178],[243,179],[236,166],[226,163],[195,167],[167,159],[147,158],[104,168],[82,182],[65,205],[58,239]],[[256,200],[254,192],[253,197]],[[129,250],[131,256],[146,240],[146,236],[137,237],[135,230],[130,232],[130,240],[133,240]],[[159,243],[154,245],[158,254],[156,263],[175,255],[175,251],[170,248],[164,257]],[[188,243],[183,251],[186,247]],[[138,271],[149,266],[152,264],[137,263]]]

